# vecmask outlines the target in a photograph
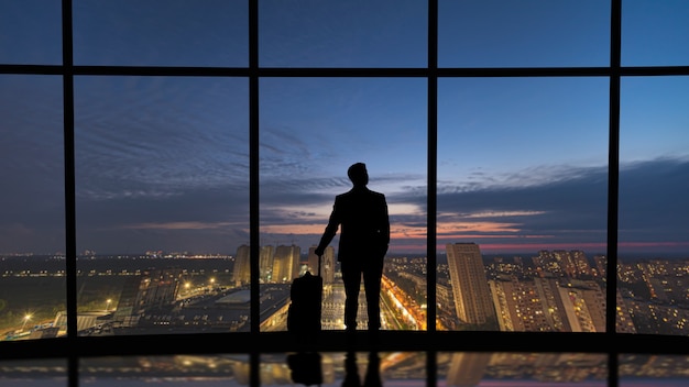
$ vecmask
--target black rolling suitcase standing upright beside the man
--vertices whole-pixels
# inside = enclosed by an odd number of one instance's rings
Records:
[[[298,335],[315,335],[320,332],[320,312],[322,301],[322,277],[320,276],[318,257],[318,275],[306,272],[292,281],[287,309],[287,331]]]

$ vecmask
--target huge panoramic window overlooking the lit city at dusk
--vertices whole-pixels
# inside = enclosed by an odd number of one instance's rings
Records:
[[[3,338],[66,335],[68,316],[77,335],[284,331],[357,162],[389,204],[385,330],[603,332],[615,316],[620,333],[685,335],[687,15],[7,2]],[[336,236],[327,330],[343,328],[339,269]]]

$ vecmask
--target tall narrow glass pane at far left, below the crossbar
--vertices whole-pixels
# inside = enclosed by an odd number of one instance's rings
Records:
[[[62,78],[0,76],[0,340],[54,338],[66,309]]]

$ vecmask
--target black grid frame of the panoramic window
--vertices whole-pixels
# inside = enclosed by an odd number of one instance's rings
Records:
[[[608,267],[617,266],[617,197],[620,144],[620,81],[622,77],[688,76],[689,66],[622,67],[622,0],[611,0],[610,65],[603,67],[547,68],[439,68],[438,67],[438,1],[428,0],[428,60],[423,68],[265,68],[259,63],[259,5],[249,1],[249,66],[248,67],[147,67],[147,66],[75,66],[73,62],[72,1],[63,0],[62,65],[0,64],[0,74],[58,75],[63,77],[64,97],[64,167],[66,213],[67,273],[67,336],[23,342],[0,343],[0,358],[67,357],[69,385],[78,379],[78,358],[103,355],[142,355],[184,353],[251,353],[252,385],[258,380],[258,352],[289,351],[294,345],[287,332],[260,332],[259,281],[259,80],[267,77],[422,77],[427,79],[427,264],[436,267],[436,179],[437,179],[437,106],[438,79],[448,77],[605,77],[610,81],[609,106],[609,183],[608,183]],[[165,345],[169,335],[85,338],[77,327],[77,266],[75,221],[75,150],[74,150],[74,78],[75,76],[168,76],[168,77],[245,77],[249,79],[249,147],[250,147],[250,256],[251,256],[251,332],[175,334],[175,344]],[[435,305],[436,273],[427,274],[428,305]],[[427,310],[427,331],[385,332],[384,345],[396,351],[535,351],[597,352],[609,355],[609,380],[616,385],[617,355],[622,353],[689,353],[689,338],[646,336],[615,332],[616,270],[608,269],[606,331],[604,333],[536,333],[536,332],[437,332],[436,310]],[[390,335],[387,335],[390,333]],[[339,332],[326,332],[320,349],[346,350]],[[145,343],[145,344],[142,344]],[[227,343],[232,343],[229,347]],[[256,345],[258,343],[258,345]],[[365,349],[362,346],[361,349]],[[429,356],[428,371],[435,360]],[[435,378],[428,373],[429,380]],[[613,384],[611,384],[613,385]]]

